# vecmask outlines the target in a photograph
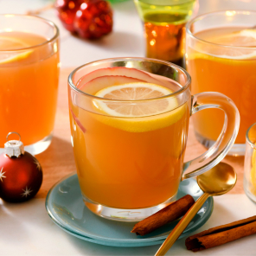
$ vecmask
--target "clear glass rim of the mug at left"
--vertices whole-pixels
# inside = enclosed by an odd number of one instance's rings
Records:
[[[47,45],[50,42],[54,42],[54,40],[56,40],[60,35],[60,29],[55,25],[54,22],[51,22],[48,19],[45,19],[45,18],[42,18],[39,16],[30,16],[30,15],[22,15],[22,14],[0,14],[0,17],[5,17],[5,18],[19,17],[19,18],[25,18],[25,19],[31,19],[31,20],[38,20],[40,22],[47,23],[52,29],[54,29],[54,35],[51,38],[46,39],[42,43],[38,43],[38,44],[29,46],[29,47],[25,47],[25,48],[16,48],[16,49],[8,49],[8,50],[0,49],[0,53],[18,52],[18,51],[23,51],[23,50],[27,50],[27,49],[42,47],[43,45]]]

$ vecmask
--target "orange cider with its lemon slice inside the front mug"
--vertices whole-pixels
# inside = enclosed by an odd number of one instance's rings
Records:
[[[99,91],[94,86],[81,89],[95,96],[112,97],[110,94],[116,93],[118,99],[122,95],[147,99],[147,95],[156,98],[177,87],[135,82],[119,89],[114,84]],[[110,89],[113,91],[108,92]],[[168,109],[167,99],[138,104],[138,109],[97,99],[93,101],[94,112],[70,106],[83,195],[112,208],[149,208],[176,195],[189,126],[189,102],[178,107],[176,100],[171,103],[176,105],[173,110]],[[123,117],[108,115],[116,109]]]

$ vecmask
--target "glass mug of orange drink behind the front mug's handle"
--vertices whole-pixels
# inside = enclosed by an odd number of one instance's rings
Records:
[[[256,12],[244,10],[208,13],[187,24],[186,64],[192,94],[223,93],[234,100],[240,112],[240,131],[228,153],[234,156],[245,154],[246,130],[256,120],[256,41],[250,45],[250,29],[255,24]],[[243,37],[236,42],[240,35],[249,40]],[[193,121],[197,140],[210,147],[221,132],[224,115],[208,110],[195,115]]]

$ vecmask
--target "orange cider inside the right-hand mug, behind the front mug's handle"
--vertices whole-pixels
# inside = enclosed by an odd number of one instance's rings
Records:
[[[195,36],[218,43],[243,29],[209,29]],[[189,45],[187,49],[192,94],[219,92],[233,99],[240,112],[240,131],[235,143],[244,144],[246,130],[256,120],[256,112],[253,111],[256,107],[256,48],[223,48],[195,42],[193,48]],[[203,138],[216,140],[221,133],[224,114],[219,110],[204,110],[196,113],[193,120],[195,132]]]

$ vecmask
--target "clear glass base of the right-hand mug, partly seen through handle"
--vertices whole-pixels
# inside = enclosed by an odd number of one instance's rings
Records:
[[[201,134],[195,131],[195,138],[199,143],[205,146],[207,149],[210,148],[215,141],[202,137]],[[239,157],[245,156],[246,153],[246,144],[234,144],[231,150],[228,151],[227,156]]]

